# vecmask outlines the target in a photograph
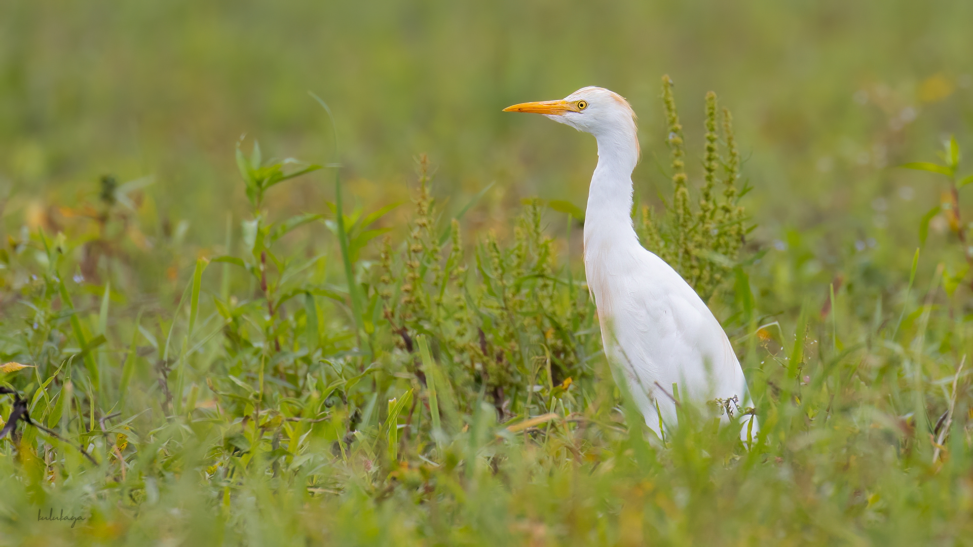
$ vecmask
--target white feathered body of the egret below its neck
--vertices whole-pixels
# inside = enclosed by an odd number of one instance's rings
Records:
[[[746,383],[723,327],[703,300],[669,265],[641,246],[586,261],[609,359],[621,366],[649,427],[676,423],[672,384],[679,398],[701,407],[737,397]],[[609,254],[609,253],[606,253]]]

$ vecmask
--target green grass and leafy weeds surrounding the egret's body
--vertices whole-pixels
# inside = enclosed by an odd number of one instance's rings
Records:
[[[705,108],[701,212],[687,213],[697,190],[680,170],[665,83],[676,221],[653,240],[679,242],[662,248],[716,290],[726,271],[703,259],[737,260],[742,192],[729,113],[715,95]],[[849,290],[869,274],[848,268],[823,308],[811,285],[790,285],[796,307],[768,290],[804,275],[800,235],[749,274],[738,266],[724,287],[733,298],[720,302],[762,423],[752,448],[688,411],[665,443],[650,442],[640,417],[626,419],[570,246],[548,231],[563,220],[556,211],[528,200],[511,237],[464,236],[462,213],[433,199],[423,157],[396,238],[380,222],[391,205],[338,201],[277,218],[265,196],[317,165],[267,160],[255,144],[237,166],[250,210],[156,300],[124,289],[137,286],[133,264],[188,247],[178,230],[154,248],[136,243],[143,186],[103,181],[85,222],[8,237],[0,543],[973,538],[969,293],[947,284],[945,265],[917,252],[909,283],[878,298]],[[693,218],[700,227],[680,232]],[[300,238],[320,227],[333,250]],[[686,248],[698,252],[678,254]],[[52,514],[81,519],[39,518]]]

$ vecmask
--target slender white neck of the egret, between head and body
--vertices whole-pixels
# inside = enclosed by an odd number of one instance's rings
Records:
[[[585,211],[585,260],[594,253],[638,245],[631,224],[631,171],[638,163],[634,128],[595,135],[598,164]]]

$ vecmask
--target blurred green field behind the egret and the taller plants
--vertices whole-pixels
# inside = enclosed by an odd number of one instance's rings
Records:
[[[241,134],[270,155],[333,161],[331,128],[307,91],[335,113],[355,200],[406,199],[414,157],[428,153],[450,206],[496,181],[469,219],[476,227],[523,196],[584,204],[594,140],[500,109],[607,87],[640,117],[634,178],[651,197],[667,189],[668,73],[696,154],[703,93],[734,111],[761,237],[816,227],[835,248],[875,237],[908,247],[908,259],[938,190],[932,175],[890,166],[934,160],[951,133],[969,147],[970,20],[965,0],[8,0],[5,226],[90,199],[101,174],[151,174],[160,223],[186,219],[188,240],[221,241],[224,211],[245,202]],[[323,211],[329,181],[315,173],[272,205]]]

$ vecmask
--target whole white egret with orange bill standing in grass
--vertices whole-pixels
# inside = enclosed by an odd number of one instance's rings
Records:
[[[680,404],[704,408],[719,401],[738,413],[748,403],[746,381],[723,327],[675,270],[642,247],[632,227],[631,171],[639,147],[628,101],[592,87],[504,111],[543,114],[595,135],[598,164],[585,211],[585,273],[605,353],[624,371],[646,424],[660,436],[676,424],[673,384]]]

